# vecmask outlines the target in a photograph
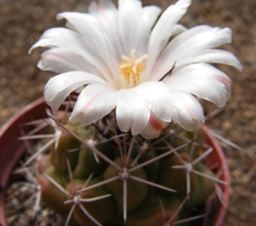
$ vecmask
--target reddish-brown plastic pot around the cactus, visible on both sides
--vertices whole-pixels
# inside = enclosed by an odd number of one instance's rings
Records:
[[[0,226],[8,226],[4,212],[4,192],[9,186],[9,178],[15,165],[17,165],[26,149],[24,142],[18,140],[18,137],[21,136],[20,125],[24,125],[32,120],[44,119],[47,117],[46,108],[47,105],[44,98],[34,101],[15,114],[13,118],[9,119],[0,130]],[[23,127],[23,130],[28,132],[31,128],[26,126]],[[229,168],[224,158],[223,150],[215,138],[212,137],[207,127],[204,127],[204,130],[207,134],[208,144],[214,149],[207,156],[207,165],[210,166],[212,171],[221,172],[219,179],[230,183]],[[221,226],[224,222],[229,201],[229,187],[224,185],[220,185],[220,187],[224,194],[222,198],[224,204],[219,201],[216,194],[212,195],[206,203],[207,217],[204,218],[202,226]]]

